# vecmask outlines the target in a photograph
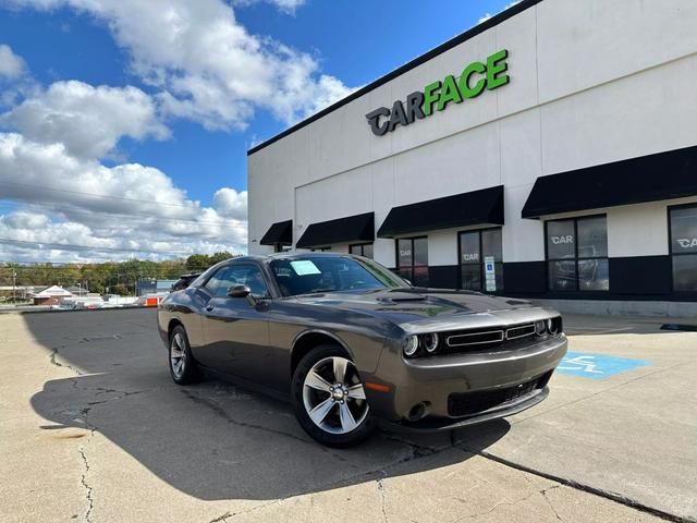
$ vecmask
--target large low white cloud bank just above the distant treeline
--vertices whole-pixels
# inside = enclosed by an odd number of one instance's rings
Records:
[[[17,133],[0,133],[0,172],[2,198],[23,205],[0,217],[0,239],[15,241],[2,244],[3,258],[123,259],[135,253],[171,258],[246,251],[246,193],[223,188],[216,194],[217,208],[205,207],[156,168],[106,167],[71,156],[62,144]],[[90,248],[39,250],[22,241]],[[120,248],[129,251],[114,251]]]

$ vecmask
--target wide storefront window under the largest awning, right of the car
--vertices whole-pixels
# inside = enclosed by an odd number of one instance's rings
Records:
[[[608,291],[608,222],[604,216],[548,221],[550,291]]]

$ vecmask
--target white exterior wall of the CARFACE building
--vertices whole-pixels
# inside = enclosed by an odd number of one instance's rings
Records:
[[[271,223],[389,210],[505,186],[505,262],[545,257],[521,210],[537,177],[697,145],[697,2],[545,0],[249,156],[250,252]],[[473,60],[510,51],[510,85],[375,136],[364,118]],[[660,175],[660,173],[657,173]],[[608,209],[610,256],[665,254],[669,203]],[[456,263],[456,231],[429,264]],[[394,243],[375,256],[394,265]]]

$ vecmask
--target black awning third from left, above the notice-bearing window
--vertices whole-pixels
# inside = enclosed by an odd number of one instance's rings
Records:
[[[394,207],[378,236],[476,224],[503,224],[503,185]]]

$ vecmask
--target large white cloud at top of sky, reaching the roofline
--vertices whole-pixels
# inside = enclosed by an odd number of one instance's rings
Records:
[[[297,0],[274,0],[296,7]],[[207,129],[244,129],[265,109],[292,123],[351,93],[310,54],[253,35],[222,0],[12,0],[72,7],[105,20],[162,109]],[[154,28],[157,28],[155,31]]]

